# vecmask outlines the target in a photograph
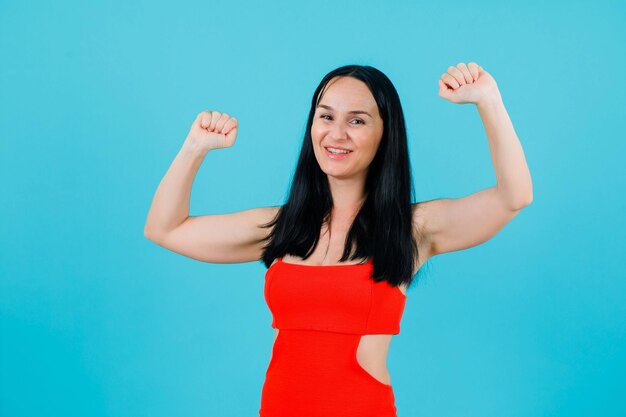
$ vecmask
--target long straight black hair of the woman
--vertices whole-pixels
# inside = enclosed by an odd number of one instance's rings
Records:
[[[395,87],[378,69],[346,65],[324,76],[315,89],[302,149],[287,202],[276,217],[262,227],[275,226],[264,240],[262,261],[291,254],[308,258],[320,239],[333,207],[328,177],[313,151],[311,125],[328,82],[337,76],[353,77],[370,89],[383,120],[383,135],[365,183],[366,197],[346,237],[340,262],[372,258],[374,281],[397,286],[411,283],[418,246],[413,237],[412,201],[415,194],[407,145],[404,114]]]

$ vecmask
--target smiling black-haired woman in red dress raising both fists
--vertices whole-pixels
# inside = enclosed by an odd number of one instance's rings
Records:
[[[268,267],[275,337],[262,417],[396,416],[386,356],[414,276],[435,255],[487,241],[532,201],[522,147],[491,75],[474,62],[451,66],[439,96],[477,106],[496,185],[413,203],[396,89],[379,70],[348,65],[313,94],[284,205],[189,216],[200,164],[232,146],[238,126],[216,111],[193,122],[156,191],[145,236],[205,262]]]

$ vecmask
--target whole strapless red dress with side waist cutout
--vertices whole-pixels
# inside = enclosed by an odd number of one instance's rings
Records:
[[[261,393],[261,417],[396,417],[391,385],[356,358],[363,334],[398,334],[406,296],[356,265],[298,265],[279,258],[265,275],[280,329]]]

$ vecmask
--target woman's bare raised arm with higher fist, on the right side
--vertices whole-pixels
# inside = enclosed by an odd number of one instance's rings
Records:
[[[439,96],[476,105],[489,141],[496,185],[462,198],[418,204],[414,224],[428,241],[430,256],[489,240],[533,199],[522,145],[491,75],[474,62],[448,67],[439,79]]]

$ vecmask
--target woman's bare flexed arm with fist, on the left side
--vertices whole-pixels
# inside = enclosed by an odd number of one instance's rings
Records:
[[[259,260],[261,228],[278,212],[278,206],[235,213],[189,216],[193,180],[206,154],[230,147],[237,135],[237,120],[226,113],[201,112],[185,142],[161,180],[144,226],[146,238],[159,246],[193,259],[211,263]]]

